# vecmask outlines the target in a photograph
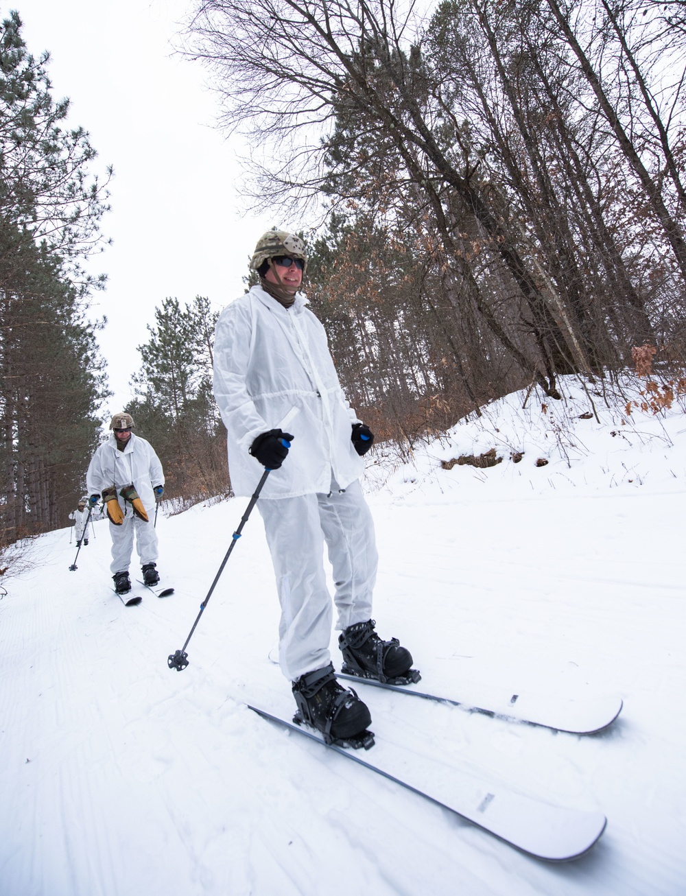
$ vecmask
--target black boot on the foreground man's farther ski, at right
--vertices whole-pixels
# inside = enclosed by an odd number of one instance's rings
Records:
[[[375,678],[382,684],[409,685],[422,677],[412,666],[412,654],[400,647],[398,638],[382,641],[374,632],[373,619],[348,625],[339,636],[343,652],[342,671],[360,678]]]

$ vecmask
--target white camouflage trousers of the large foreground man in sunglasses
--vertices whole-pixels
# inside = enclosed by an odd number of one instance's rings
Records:
[[[279,665],[293,681],[330,663],[333,605],[324,572],[326,541],[335,583],[336,628],[372,616],[378,555],[372,513],[358,481],[330,495],[257,502],[262,514],[281,605]]]

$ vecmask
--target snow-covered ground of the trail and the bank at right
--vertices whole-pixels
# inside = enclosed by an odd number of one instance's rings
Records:
[[[171,598],[123,606],[104,522],[77,572],[65,529],[37,539],[33,569],[5,583],[0,896],[685,892],[686,415],[628,418],[626,399],[608,407],[574,382],[563,392],[533,392],[525,409],[525,393],[495,402],[411,463],[368,455],[374,616],[412,650],[426,690],[620,694],[622,715],[578,737],[371,688],[364,698],[377,743],[401,739],[418,763],[476,763],[527,796],[606,814],[585,857],[528,857],[246,709],[295,709],[268,659],[278,608],[258,513],[189,667],[167,668],[241,498],[159,519]],[[493,447],[497,466],[442,469]]]

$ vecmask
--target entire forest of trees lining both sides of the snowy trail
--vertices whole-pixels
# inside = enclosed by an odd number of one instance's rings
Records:
[[[221,126],[256,150],[254,207],[302,223],[307,295],[380,441],[528,386],[554,400],[561,375],[612,384],[637,358],[658,395],[682,389],[683,0],[195,0],[184,34]],[[6,542],[64,524],[98,443],[103,282],[80,262],[107,178],[18,17],[0,37]],[[230,489],[215,319],[208,297],[165,298],[126,408],[176,509]]]

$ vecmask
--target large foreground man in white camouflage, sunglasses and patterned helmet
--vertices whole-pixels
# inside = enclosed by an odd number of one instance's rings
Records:
[[[260,284],[217,323],[214,394],[235,494],[253,494],[261,464],[274,470],[257,506],[281,605],[279,664],[298,712],[330,742],[360,742],[371,717],[356,693],[339,685],[331,663],[324,542],[344,671],[397,684],[419,675],[409,651],[374,630],[377,553],[358,481],[373,434],[347,403],[322,323],[299,292],[306,266],[299,237],[270,230],[260,238],[250,263]]]

